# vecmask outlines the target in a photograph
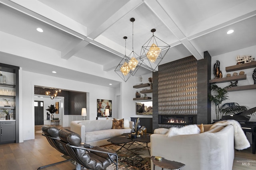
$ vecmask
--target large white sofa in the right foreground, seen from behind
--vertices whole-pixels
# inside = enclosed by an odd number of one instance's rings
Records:
[[[185,164],[182,170],[232,170],[234,127],[216,126],[208,131],[210,126],[204,125],[203,133],[193,135],[152,134],[151,156],[181,162]],[[160,169],[156,166],[156,170]]]

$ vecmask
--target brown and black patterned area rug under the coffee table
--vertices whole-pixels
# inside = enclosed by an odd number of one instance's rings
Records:
[[[146,144],[140,143],[144,147]],[[140,149],[142,148],[141,145],[138,145],[137,143],[133,143],[132,145],[126,145],[125,147],[129,149],[132,149],[136,154],[122,148],[120,146],[116,145],[106,145],[102,148],[107,150],[113,150],[118,154],[118,170],[150,170],[150,154],[148,152],[148,148]],[[148,143],[148,147],[150,147],[150,143]],[[118,151],[117,151],[118,150]],[[62,157],[68,159],[65,155],[62,155]],[[75,161],[71,161],[73,164],[76,164]],[[82,167],[82,170],[87,170],[87,168]],[[107,170],[116,170],[115,164],[111,164],[108,166]]]

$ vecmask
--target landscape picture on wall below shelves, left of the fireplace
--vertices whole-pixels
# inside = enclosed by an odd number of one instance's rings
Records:
[[[136,115],[152,115],[153,102],[136,102]]]

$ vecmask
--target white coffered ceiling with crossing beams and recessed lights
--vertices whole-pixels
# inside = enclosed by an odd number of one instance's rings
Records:
[[[130,18],[135,18],[133,45],[138,55],[152,36],[152,28],[156,37],[171,46],[161,64],[190,55],[200,60],[204,51],[216,56],[256,45],[255,0],[0,0],[0,36],[30,41],[35,49],[43,46],[59,51],[56,59],[62,62],[55,64],[62,70],[59,77],[76,80],[73,75],[79,74],[88,76],[79,81],[93,84],[99,83],[95,76],[100,75],[76,70],[75,61],[96,63],[98,69],[114,72],[124,53],[132,51]],[[37,27],[44,32],[36,31]],[[234,33],[226,34],[229,29]],[[126,51],[124,36],[128,37]],[[4,52],[1,47],[0,51]],[[23,70],[49,74],[45,68],[54,66],[48,59],[4,54],[1,63]],[[74,68],[61,64],[65,62]],[[136,76],[148,73],[142,65]],[[106,81],[118,84],[122,80],[116,76]]]

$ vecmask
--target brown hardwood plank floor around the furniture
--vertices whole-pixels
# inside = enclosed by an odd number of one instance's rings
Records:
[[[57,126],[59,129],[62,127]],[[64,127],[70,129],[70,127]],[[35,127],[35,132],[40,131],[41,126]],[[0,145],[0,170],[36,170],[40,166],[52,164],[64,160],[56,149],[50,146],[42,133],[35,133],[34,140],[24,143],[12,143]],[[43,170],[73,170],[76,167],[65,162]],[[252,154],[252,148],[236,151],[232,170],[255,170],[256,154]]]

